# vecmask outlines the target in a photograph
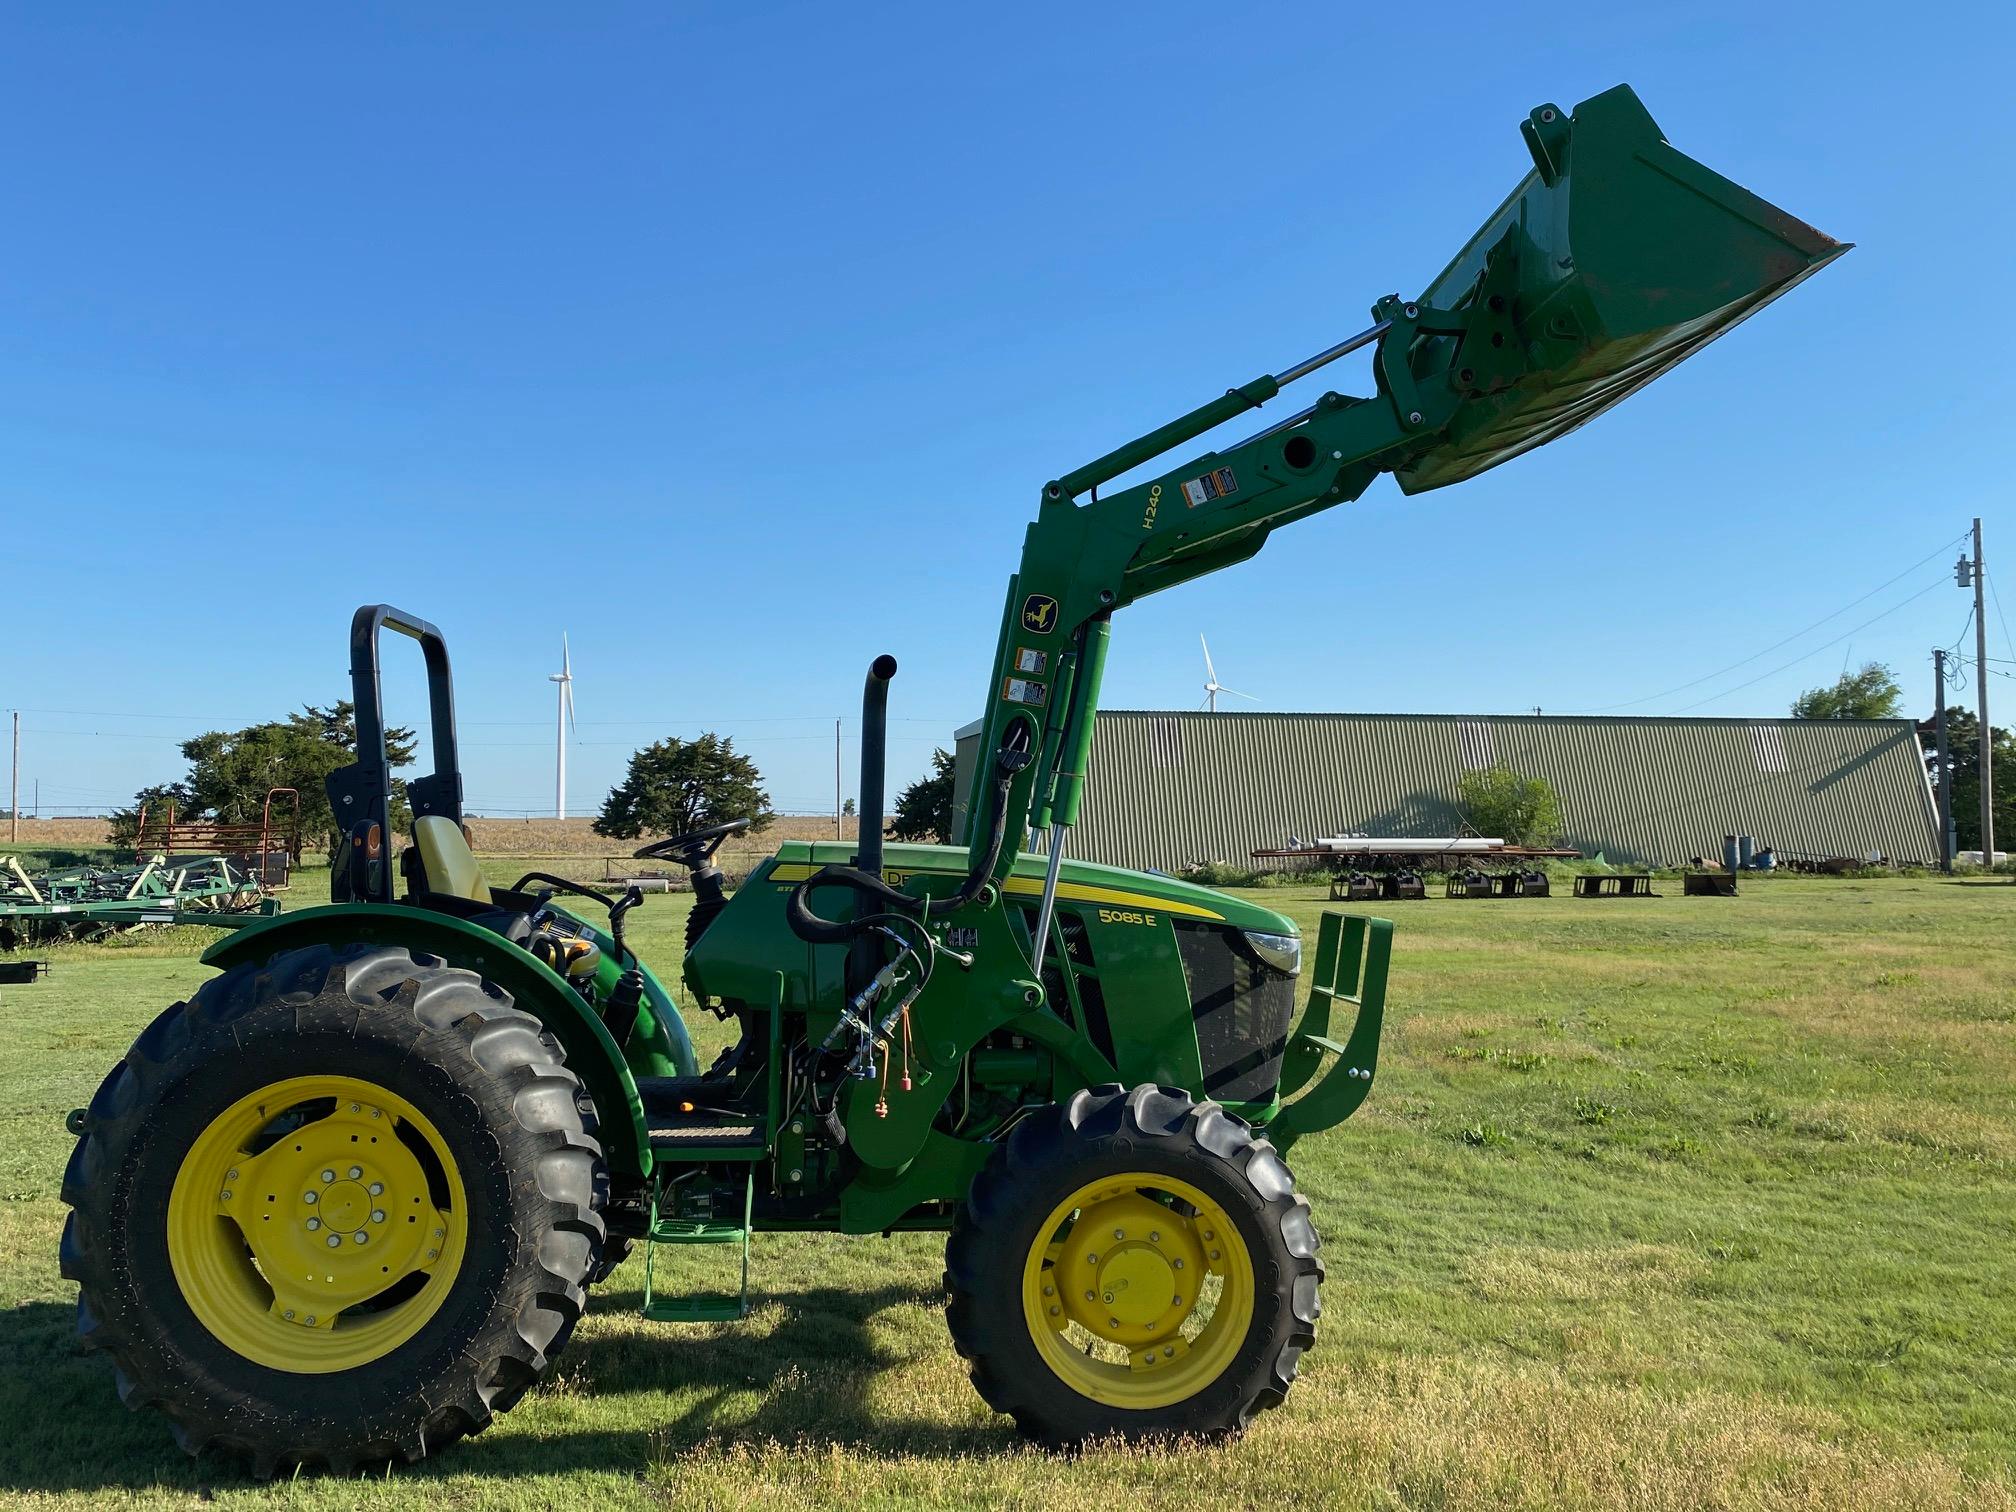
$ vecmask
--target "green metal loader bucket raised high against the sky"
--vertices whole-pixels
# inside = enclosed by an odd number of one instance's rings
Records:
[[[1415,341],[1415,379],[1466,397],[1395,472],[1409,494],[1560,439],[1849,250],[1669,147],[1625,85],[1572,117],[1542,105],[1520,131],[1534,171],[1419,302],[1502,300],[1494,339],[1524,363],[1494,373],[1458,337]]]

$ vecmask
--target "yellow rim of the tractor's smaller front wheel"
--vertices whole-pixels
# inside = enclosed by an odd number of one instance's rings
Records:
[[[1145,1171],[1089,1181],[1036,1230],[1022,1320],[1073,1391],[1147,1411],[1204,1391],[1254,1318],[1254,1262],[1230,1214]]]

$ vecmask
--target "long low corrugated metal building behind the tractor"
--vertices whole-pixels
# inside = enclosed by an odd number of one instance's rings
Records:
[[[964,778],[978,728],[960,736]],[[1937,859],[1911,720],[1133,710],[1099,716],[1070,855],[1175,869],[1244,863],[1290,835],[1454,835],[1460,776],[1494,762],[1546,778],[1566,843],[1617,863],[1720,857],[1724,835],[1788,855]]]

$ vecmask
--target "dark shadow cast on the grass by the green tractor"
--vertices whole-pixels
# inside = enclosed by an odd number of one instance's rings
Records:
[[[1018,1443],[1004,1419],[986,1413],[958,1423],[917,1417],[877,1397],[877,1379],[917,1363],[923,1349],[954,1361],[935,1288],[754,1292],[754,1312],[720,1327],[643,1322],[641,1300],[635,1290],[597,1292],[591,1316],[619,1327],[577,1335],[552,1375],[500,1419],[504,1431],[456,1443],[393,1478],[423,1484],[435,1476],[579,1470],[641,1476],[689,1454],[764,1441],[927,1460],[972,1460]],[[925,1314],[917,1320],[929,1325],[929,1345],[889,1349],[875,1329],[887,1308]],[[958,1389],[970,1395],[964,1369],[958,1377]],[[978,1397],[972,1401],[978,1407]],[[595,1403],[609,1403],[609,1411],[597,1413]],[[597,1415],[617,1425],[564,1425]],[[250,1484],[240,1462],[216,1454],[190,1460],[167,1419],[119,1405],[111,1361],[77,1343],[73,1302],[0,1308],[0,1498],[79,1490],[204,1494]]]

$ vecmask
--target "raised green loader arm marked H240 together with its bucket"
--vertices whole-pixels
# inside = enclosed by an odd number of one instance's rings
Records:
[[[1849,250],[1667,145],[1623,85],[1572,115],[1542,105],[1520,131],[1532,171],[1419,298],[1389,294],[1363,333],[1044,484],[1008,581],[978,748],[984,764],[1010,738],[1034,752],[1008,786],[998,877],[1016,843],[1048,831],[1054,883],[1085,798],[1113,611],[1246,560],[1381,472],[1413,494],[1558,439]],[[1224,452],[1099,494],[1365,347],[1371,395],[1322,393]],[[996,821],[988,788],[976,772],[974,865]]]

